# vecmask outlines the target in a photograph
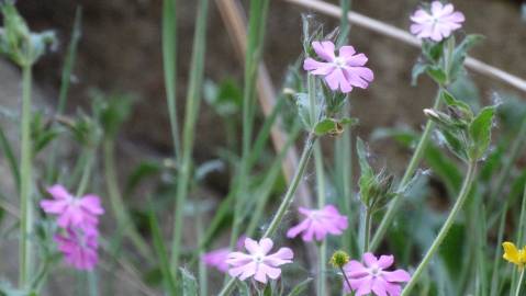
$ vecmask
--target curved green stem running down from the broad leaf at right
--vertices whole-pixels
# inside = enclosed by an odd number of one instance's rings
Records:
[[[472,161],[468,166],[468,172],[466,174],[462,189],[460,190],[460,193],[457,197],[457,202],[455,203],[451,212],[449,213],[449,216],[444,223],[437,237],[435,238],[432,246],[429,247],[429,250],[427,250],[427,253],[425,254],[424,259],[421,261],[418,267],[413,273],[411,281],[407,283],[407,285],[403,289],[402,296],[409,296],[411,294],[411,291],[414,288],[415,284],[418,282],[423,271],[425,270],[427,264],[429,264],[435,253],[438,251],[438,248],[440,247],[444,239],[446,238],[449,229],[451,228],[452,224],[455,223],[455,219],[457,218],[458,214],[460,213],[460,209],[462,208],[466,200],[469,196],[471,184],[473,183],[473,180],[474,180],[475,171],[477,171],[477,162]]]

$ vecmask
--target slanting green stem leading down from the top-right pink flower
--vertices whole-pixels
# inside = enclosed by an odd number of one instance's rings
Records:
[[[441,91],[443,91],[443,88],[440,87],[437,91],[433,109],[440,107]],[[422,134],[422,137],[418,141],[418,146],[416,146],[416,150],[414,151],[413,157],[411,158],[410,164],[407,166],[407,169],[405,170],[404,177],[402,178],[402,181],[400,181],[398,191],[401,191],[405,185],[407,185],[407,183],[413,178],[413,174],[416,171],[418,163],[424,157],[424,152],[425,152],[425,149],[427,148],[427,143],[429,141],[429,137],[432,135],[432,130],[434,127],[435,127],[435,123],[428,119],[426,123],[424,133]],[[382,221],[380,223],[380,226],[378,227],[377,231],[374,232],[374,237],[372,238],[371,246],[370,246],[371,250],[376,250],[379,247],[381,240],[385,236],[388,228],[392,224],[394,215],[400,208],[402,200],[403,200],[403,194],[398,194],[390,203],[388,212],[385,212],[385,215],[383,216]]]

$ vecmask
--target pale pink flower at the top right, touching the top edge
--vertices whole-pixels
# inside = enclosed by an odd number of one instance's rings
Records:
[[[452,4],[444,5],[440,1],[434,1],[430,14],[424,9],[418,9],[411,15],[411,20],[414,22],[411,25],[411,33],[416,37],[439,42],[460,29],[465,16],[461,12],[454,11]]]

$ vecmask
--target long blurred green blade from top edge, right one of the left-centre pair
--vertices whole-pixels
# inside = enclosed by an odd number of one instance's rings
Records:
[[[176,208],[174,219],[174,236],[171,241],[171,271],[178,273],[179,257],[182,239],[182,223],[184,205],[192,178],[192,150],[195,135],[195,123],[201,103],[201,87],[203,80],[204,53],[206,47],[206,20],[209,0],[200,0],[198,5],[197,25],[192,50],[190,70],[190,82],[187,93],[187,105],[184,110],[184,126],[182,130],[181,161],[177,179]]]

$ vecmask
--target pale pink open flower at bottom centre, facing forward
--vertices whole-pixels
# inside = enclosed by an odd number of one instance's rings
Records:
[[[276,280],[280,276],[280,265],[291,263],[294,253],[289,248],[280,248],[278,252],[268,254],[272,249],[273,242],[269,238],[264,238],[259,242],[246,238],[245,249],[248,254],[242,252],[232,252],[228,254],[226,263],[232,265],[228,274],[245,281],[253,276],[254,280],[266,284],[267,277]]]

